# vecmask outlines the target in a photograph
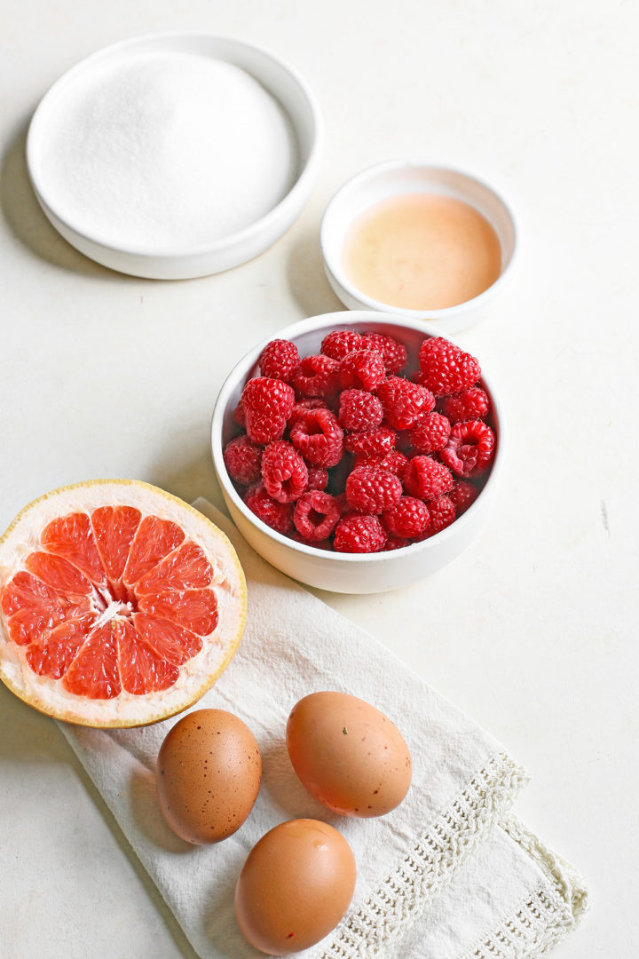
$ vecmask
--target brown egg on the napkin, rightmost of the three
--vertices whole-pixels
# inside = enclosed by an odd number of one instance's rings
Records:
[[[395,723],[346,692],[313,692],[291,710],[286,747],[318,802],[342,816],[383,816],[411,781],[410,752]]]

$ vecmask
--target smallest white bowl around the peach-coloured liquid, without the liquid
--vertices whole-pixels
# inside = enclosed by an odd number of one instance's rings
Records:
[[[441,310],[406,310],[392,303],[380,303],[354,286],[343,264],[344,241],[354,220],[380,200],[413,193],[461,199],[488,220],[497,234],[502,254],[501,273],[488,290]],[[340,187],[324,213],[320,242],[331,287],[350,310],[379,310],[406,318],[427,319],[436,323],[440,333],[455,333],[483,319],[491,300],[503,289],[512,272],[516,229],[506,201],[476,177],[448,167],[390,160],[364,170]]]

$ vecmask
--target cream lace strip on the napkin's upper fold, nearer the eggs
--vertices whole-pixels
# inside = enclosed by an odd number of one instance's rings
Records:
[[[444,888],[484,832],[512,806],[527,779],[523,769],[505,754],[491,756],[395,872],[338,927],[321,959],[370,959],[399,939]]]

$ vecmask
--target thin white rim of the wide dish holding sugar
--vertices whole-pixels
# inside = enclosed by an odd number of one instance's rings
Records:
[[[120,50],[126,49],[126,47],[134,47],[137,44],[144,45],[149,41],[163,41],[163,40],[190,40],[190,39],[211,39],[218,40],[223,44],[227,44],[229,47],[241,47],[247,50],[254,51],[261,56],[270,59],[273,63],[276,63],[280,66],[285,73],[288,75],[289,79],[292,80],[298,88],[303,93],[310,112],[311,117],[311,146],[308,152],[308,159],[304,166],[301,168],[300,173],[291,186],[290,190],[285,194],[285,196],[277,203],[271,210],[265,213],[259,220],[256,220],[252,223],[249,223],[247,226],[243,226],[240,230],[236,230],[235,233],[229,233],[224,237],[219,237],[217,240],[212,241],[208,244],[199,244],[198,246],[185,246],[179,249],[175,247],[143,247],[143,246],[126,246],[123,244],[114,243],[111,239],[104,239],[98,233],[87,230],[84,226],[78,225],[73,221],[73,218],[66,217],[63,213],[59,211],[56,205],[56,198],[52,201],[50,196],[47,196],[46,189],[42,189],[41,183],[38,181],[38,176],[34,171],[36,170],[37,156],[42,149],[41,143],[41,133],[39,128],[43,124],[43,117],[46,119],[46,111],[49,109],[50,104],[57,96],[59,89],[69,80],[72,80],[74,76],[78,73],[81,73],[87,65],[92,64],[94,61],[108,58],[113,54],[119,52]],[[231,62],[231,61],[227,61]],[[243,69],[243,68],[241,68]],[[245,71],[248,72],[248,71]],[[254,78],[257,79],[257,78]],[[261,81],[258,81],[261,82]],[[263,85],[263,84],[262,84]],[[267,89],[264,86],[264,89]],[[271,93],[267,89],[267,92],[273,97],[273,99],[281,105],[286,116],[288,117],[291,128],[297,132],[296,127],[293,123],[293,119],[285,109],[285,106],[280,103],[278,97],[275,94]],[[40,143],[38,144],[38,136],[40,137]],[[300,194],[306,195],[307,191],[310,189],[310,185],[315,178],[317,169],[320,162],[320,154],[322,151],[322,144],[324,139],[324,124],[322,120],[322,114],[319,108],[317,99],[308,86],[308,83],[302,75],[292,66],[290,66],[284,59],[278,57],[276,54],[272,53],[270,50],[267,50],[265,47],[262,47],[258,43],[249,43],[245,40],[241,40],[236,36],[224,35],[224,34],[212,34],[208,31],[194,31],[194,30],[169,30],[161,31],[158,33],[150,34],[140,34],[137,36],[127,37],[125,40],[119,40],[116,43],[110,43],[108,46],[102,47],[100,50],[96,50],[91,54],[88,54],[86,57],[81,58],[73,66],[69,67],[68,70],[65,70],[55,82],[51,84],[48,88],[38,105],[35,107],[34,115],[31,118],[29,124],[29,130],[27,133],[27,145],[26,145],[26,156],[27,156],[27,170],[29,173],[29,178],[31,184],[34,188],[34,192],[38,199],[53,213],[53,215],[68,229],[73,230],[74,233],[77,233],[78,236],[83,237],[86,240],[89,240],[91,243],[96,244],[97,246],[103,246],[105,249],[114,250],[118,253],[126,253],[131,256],[141,256],[141,257],[164,257],[170,259],[182,259],[186,257],[199,256],[204,253],[215,253],[219,250],[226,249],[229,246],[234,246],[238,243],[243,243],[245,240],[252,239],[255,235],[262,233],[262,230],[268,229],[271,222],[278,220],[283,209],[286,209],[290,206],[295,205]]]

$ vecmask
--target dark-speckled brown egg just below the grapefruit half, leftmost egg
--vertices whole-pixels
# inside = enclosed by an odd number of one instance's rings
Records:
[[[248,726],[224,710],[196,710],[171,728],[157,758],[157,796],[187,842],[220,842],[258,797],[262,756]]]

